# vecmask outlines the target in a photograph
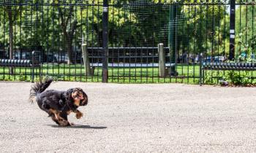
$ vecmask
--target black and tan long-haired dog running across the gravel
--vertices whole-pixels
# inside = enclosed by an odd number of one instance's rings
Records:
[[[29,99],[32,103],[37,101],[39,108],[47,112],[59,126],[70,126],[72,124],[69,123],[67,115],[74,112],[77,119],[83,117],[78,107],[87,105],[88,96],[78,87],[67,91],[46,90],[51,82],[53,79],[47,78],[44,82],[40,81],[32,85]]]

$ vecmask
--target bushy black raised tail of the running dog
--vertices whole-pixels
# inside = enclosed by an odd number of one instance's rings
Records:
[[[49,87],[51,82],[53,82],[53,79],[46,78],[43,82],[36,82],[34,85],[32,85],[29,94],[29,100],[31,101],[31,103],[34,102],[34,99],[36,98],[37,94],[44,92],[46,88]]]

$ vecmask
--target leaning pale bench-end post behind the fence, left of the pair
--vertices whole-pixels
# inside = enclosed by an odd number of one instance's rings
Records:
[[[94,74],[93,69],[90,68],[90,60],[89,53],[87,50],[87,44],[82,44],[82,52],[83,52],[83,66],[86,72],[86,76],[92,76]]]

